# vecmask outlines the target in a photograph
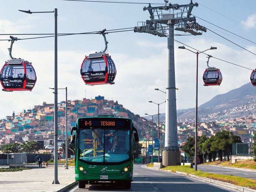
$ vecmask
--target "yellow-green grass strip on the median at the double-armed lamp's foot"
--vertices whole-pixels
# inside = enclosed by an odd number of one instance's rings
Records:
[[[223,182],[231,183],[231,184],[242,186],[242,187],[249,187],[254,190],[256,189],[256,180],[232,176],[232,175],[220,175],[220,174],[207,173],[202,171],[195,171],[193,168],[190,168],[190,166],[168,166],[168,167],[162,168],[162,170],[171,170],[172,172],[180,171],[185,173],[191,173],[193,175],[197,175],[200,177],[207,177],[210,179],[223,181]]]

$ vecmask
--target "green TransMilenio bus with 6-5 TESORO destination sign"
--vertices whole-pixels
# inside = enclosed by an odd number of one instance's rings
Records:
[[[79,182],[79,188],[85,188],[87,184],[114,183],[131,188],[133,140],[139,141],[131,119],[114,116],[78,118],[71,135],[71,143],[75,143],[75,180]]]

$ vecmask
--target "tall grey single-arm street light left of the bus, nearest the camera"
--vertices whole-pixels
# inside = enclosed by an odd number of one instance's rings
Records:
[[[54,181],[52,184],[60,184],[58,181],[58,74],[57,74],[57,8],[54,11],[32,12],[24,11],[28,14],[32,13],[51,13],[54,12]]]

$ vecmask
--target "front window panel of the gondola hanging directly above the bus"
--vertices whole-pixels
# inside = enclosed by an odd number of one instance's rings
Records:
[[[105,81],[104,59],[86,59],[82,65],[82,76],[86,82]]]

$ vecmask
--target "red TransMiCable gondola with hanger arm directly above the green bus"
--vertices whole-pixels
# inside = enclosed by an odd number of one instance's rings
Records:
[[[104,51],[85,56],[82,62],[80,74],[86,85],[115,84],[116,66],[111,56],[105,53],[108,43],[105,31],[106,29],[99,32],[105,40]]]

